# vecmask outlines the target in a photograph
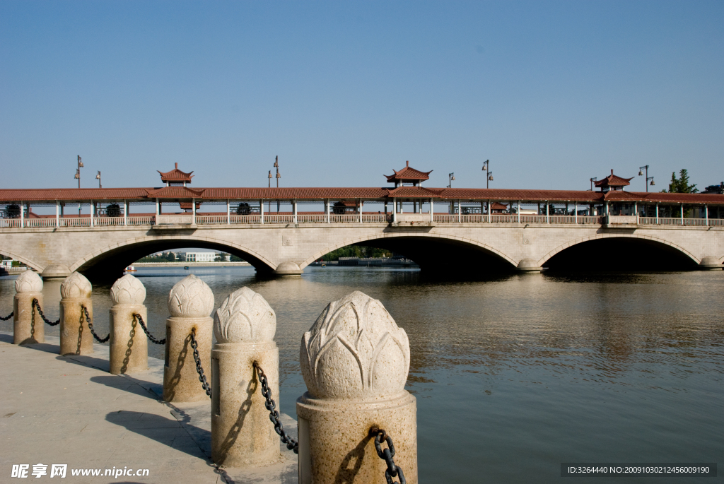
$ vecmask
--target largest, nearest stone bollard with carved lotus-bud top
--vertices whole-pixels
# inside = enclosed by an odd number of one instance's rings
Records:
[[[404,389],[410,343],[382,303],[358,291],[330,303],[302,338],[300,366],[299,483],[385,483],[387,464],[369,436],[376,427],[416,484],[417,407]]]

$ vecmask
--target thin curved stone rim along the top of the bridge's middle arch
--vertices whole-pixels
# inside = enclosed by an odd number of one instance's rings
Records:
[[[348,245],[355,245],[355,244],[361,244],[362,242],[376,242],[376,244],[370,244],[370,245],[388,245],[389,242],[395,241],[395,239],[418,239],[421,242],[425,241],[434,241],[434,242],[442,242],[447,245],[458,245],[461,247],[466,247],[468,249],[473,249],[479,252],[484,252],[487,255],[492,256],[492,258],[499,260],[502,263],[502,266],[508,268],[508,264],[510,265],[510,269],[515,268],[517,266],[517,261],[513,260],[513,258],[510,258],[507,254],[500,252],[500,250],[495,249],[494,247],[491,247],[490,245],[484,244],[480,242],[479,240],[475,239],[469,239],[467,237],[458,237],[453,235],[447,235],[447,234],[430,234],[426,232],[386,232],[380,236],[379,234],[372,234],[367,235],[364,237],[357,237],[355,239],[347,239],[343,242],[338,242],[333,245],[329,245],[328,247],[324,248],[323,250],[320,250],[319,252],[316,252],[313,256],[306,259],[303,263],[300,264],[300,268],[305,268],[309,264],[313,263],[315,260],[321,258],[323,255],[332,252],[332,250],[337,250],[340,247],[346,247]],[[401,241],[400,241],[401,242]],[[394,245],[394,244],[393,244]],[[387,247],[382,247],[387,248]],[[395,249],[395,252],[398,252],[400,254],[405,254],[404,249]],[[405,254],[406,255],[406,254]],[[415,260],[416,263],[420,264],[420,266],[424,266],[423,263],[421,263],[420,260],[416,260],[414,257],[411,257],[411,259]]]

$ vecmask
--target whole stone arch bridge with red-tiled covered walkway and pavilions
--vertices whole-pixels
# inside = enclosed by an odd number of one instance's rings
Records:
[[[111,279],[180,247],[230,252],[277,275],[351,244],[440,273],[724,262],[716,193],[627,192],[628,179],[613,173],[600,192],[428,188],[427,174],[409,166],[387,178],[394,188],[191,189],[191,175],[174,169],[161,173],[161,188],[0,190],[0,254],[46,279]]]

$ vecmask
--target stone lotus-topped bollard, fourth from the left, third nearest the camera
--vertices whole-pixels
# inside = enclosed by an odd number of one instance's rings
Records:
[[[214,320],[209,315],[214,310],[214,293],[204,281],[191,274],[172,287],[168,307],[171,317],[166,320],[164,400],[198,402],[208,399],[198,381],[190,334],[195,330],[201,368],[206,378],[210,378]]]

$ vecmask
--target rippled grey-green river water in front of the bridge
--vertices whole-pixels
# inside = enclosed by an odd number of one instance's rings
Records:
[[[281,409],[292,417],[306,390],[304,331],[353,290],[381,300],[410,338],[423,483],[559,483],[561,462],[722,461],[724,271],[439,282],[384,268],[307,268],[274,280],[246,267],[143,268],[135,275],[153,334],[164,336],[169,289],[190,272],[211,286],[217,307],[249,286],[274,308]],[[2,315],[12,310],[13,281],[0,278]],[[43,292],[56,319],[59,283]],[[94,287],[98,334],[108,332],[110,305],[109,286]],[[12,321],[0,329],[12,331]],[[149,343],[149,354],[162,358],[163,347]],[[724,481],[718,475],[694,481]]]

